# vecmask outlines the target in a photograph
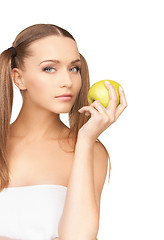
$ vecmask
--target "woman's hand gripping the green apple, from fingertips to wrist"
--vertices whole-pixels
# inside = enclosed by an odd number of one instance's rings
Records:
[[[120,104],[117,106],[118,98],[115,88],[112,84],[105,86],[109,90],[110,101],[107,108],[96,100],[90,106],[84,106],[78,111],[86,115],[91,114],[91,118],[79,129],[78,134],[87,137],[89,140],[95,142],[98,136],[106,130],[112,123],[114,123],[124,109],[127,107],[127,102],[123,90],[119,88]]]

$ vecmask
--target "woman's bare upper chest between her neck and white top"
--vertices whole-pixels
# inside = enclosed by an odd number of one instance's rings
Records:
[[[66,140],[62,146],[72,150]],[[73,156],[73,153],[64,152],[57,140],[29,142],[25,138],[11,136],[8,142],[9,187],[38,184],[67,187]]]

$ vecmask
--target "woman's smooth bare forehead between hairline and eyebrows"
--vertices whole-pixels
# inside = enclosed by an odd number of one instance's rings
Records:
[[[76,42],[68,37],[48,36],[33,42],[29,49],[39,61],[54,58],[72,61],[80,57]]]

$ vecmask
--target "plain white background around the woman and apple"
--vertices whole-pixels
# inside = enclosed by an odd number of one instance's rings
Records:
[[[164,240],[163,1],[6,0],[0,8],[0,52],[25,27],[52,23],[76,39],[91,85],[111,79],[123,86],[128,107],[99,137],[112,172],[98,239]],[[12,122],[22,104],[14,91]]]

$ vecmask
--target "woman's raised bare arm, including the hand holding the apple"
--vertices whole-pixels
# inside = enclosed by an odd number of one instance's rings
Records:
[[[90,106],[78,110],[80,113],[91,114],[91,117],[78,133],[65,206],[58,228],[61,240],[94,240],[98,232],[103,177],[97,180],[99,174],[95,175],[93,169],[97,162],[104,160],[104,156],[94,155],[94,146],[98,136],[113,124],[127,107],[124,91],[119,89],[120,104],[117,106],[118,98],[114,86],[105,85],[110,95],[107,108],[96,100]],[[101,169],[98,173],[100,172]]]

